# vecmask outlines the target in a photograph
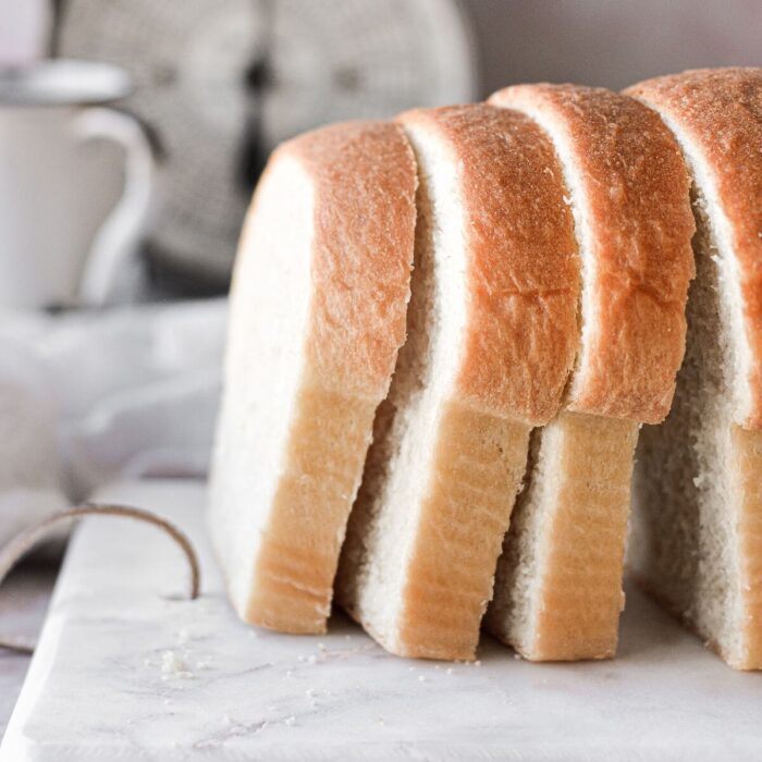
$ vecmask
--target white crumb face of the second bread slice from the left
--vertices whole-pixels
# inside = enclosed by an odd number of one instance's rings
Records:
[[[452,394],[466,322],[457,162],[425,127],[409,127],[407,135],[419,172],[408,339],[377,414],[336,581],[337,600],[395,652],[402,650],[400,593],[416,539],[416,508],[430,489],[442,404]]]

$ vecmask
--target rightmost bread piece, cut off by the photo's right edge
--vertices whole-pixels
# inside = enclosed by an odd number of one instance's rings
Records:
[[[692,71],[628,93],[693,179],[698,276],[666,423],[638,450],[628,564],[725,661],[762,668],[762,70]]]

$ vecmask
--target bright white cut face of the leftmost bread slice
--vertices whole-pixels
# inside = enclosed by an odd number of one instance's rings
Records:
[[[279,157],[257,190],[236,260],[210,483],[212,541],[242,617],[305,372],[312,220],[310,177]]]

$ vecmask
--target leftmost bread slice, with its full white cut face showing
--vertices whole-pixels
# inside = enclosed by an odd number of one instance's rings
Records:
[[[405,339],[416,182],[400,125],[355,122],[281,146],[255,194],[209,508],[248,623],[325,629],[373,416]]]

